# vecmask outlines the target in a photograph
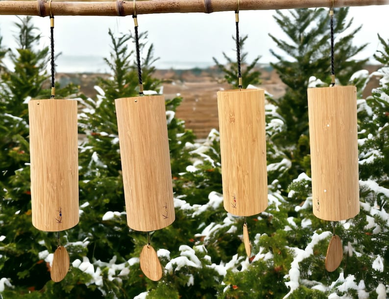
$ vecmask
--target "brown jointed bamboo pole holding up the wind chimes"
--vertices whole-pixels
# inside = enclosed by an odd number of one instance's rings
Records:
[[[308,7],[369,6],[389,4],[389,0],[240,0],[239,10],[291,9]],[[136,2],[137,14],[153,13],[212,13],[234,11],[238,0],[145,0]],[[134,13],[134,2],[62,2],[51,3],[54,16],[128,16]],[[0,1],[0,15],[50,15],[49,0]]]

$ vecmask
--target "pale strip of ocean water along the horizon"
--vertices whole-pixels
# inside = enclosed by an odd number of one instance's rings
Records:
[[[57,72],[64,73],[107,73],[109,67],[100,56],[76,56],[60,55],[55,61]],[[195,61],[163,61],[157,60],[154,66],[157,69],[206,69],[213,66],[212,61],[195,62]]]

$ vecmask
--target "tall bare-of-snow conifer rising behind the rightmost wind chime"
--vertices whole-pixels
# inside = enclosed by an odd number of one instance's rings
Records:
[[[347,14],[348,8],[335,9],[335,73],[341,85],[347,84],[351,75],[362,69],[366,62],[353,59],[366,44],[353,45],[354,35],[361,26],[347,31],[353,22],[347,19]],[[290,169],[292,179],[300,172],[310,172],[308,80],[315,76],[327,85],[331,82],[330,21],[328,10],[324,8],[292,9],[286,13],[277,10],[274,19],[287,35],[286,39],[280,39],[269,34],[277,45],[277,49],[270,52],[278,60],[271,65],[287,85],[285,95],[275,101],[287,126],[286,135],[278,139],[277,144],[290,146],[286,153],[293,165]]]

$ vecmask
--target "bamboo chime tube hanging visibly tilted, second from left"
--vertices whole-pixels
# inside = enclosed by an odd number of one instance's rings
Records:
[[[159,230],[175,219],[165,97],[115,100],[127,224]]]

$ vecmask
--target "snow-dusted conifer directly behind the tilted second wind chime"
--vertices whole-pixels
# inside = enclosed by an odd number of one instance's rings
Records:
[[[115,36],[109,31],[112,53],[106,59],[111,69],[110,79],[98,82],[97,98],[80,101],[80,131],[86,135],[80,146],[80,223],[69,231],[69,239],[83,242],[69,244],[73,262],[71,273],[65,277],[63,287],[69,294],[84,290],[88,294],[132,298],[156,283],[148,280],[139,269],[139,255],[147,242],[146,233],[129,230],[125,219],[122,171],[115,98],[138,95],[138,71],[133,64],[134,53],[129,50],[131,33]],[[152,45],[146,46],[146,35],[140,36],[142,74],[145,92],[159,89],[160,80],[153,78]],[[172,177],[179,181],[181,165],[189,163],[187,142],[194,135],[185,130],[183,122],[175,118],[175,109],[181,98],[166,101],[170,143]],[[174,184],[174,188],[177,186]],[[180,215],[177,215],[179,218]],[[181,216],[181,218],[184,218]],[[182,229],[182,223],[177,227]],[[173,226],[152,233],[152,244],[166,252],[178,251],[184,235]],[[177,245],[178,243],[178,245]],[[162,251],[163,252],[163,251]],[[164,257],[162,257],[164,261]],[[165,261],[167,262],[167,261]],[[86,271],[87,270],[87,271]],[[77,285],[74,281],[87,282]],[[69,285],[72,285],[70,287]]]

